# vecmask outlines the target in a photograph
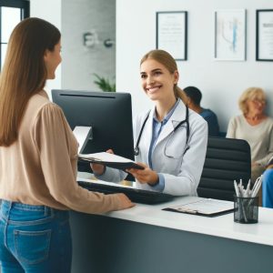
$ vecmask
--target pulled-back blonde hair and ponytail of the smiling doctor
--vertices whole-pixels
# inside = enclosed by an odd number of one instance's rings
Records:
[[[156,60],[158,63],[165,66],[170,74],[174,74],[178,70],[176,60],[165,50],[154,49],[149,51],[145,56],[142,57],[140,61],[140,66],[147,59]],[[177,85],[174,85],[174,93],[176,97],[181,98],[185,105],[187,104],[187,95],[185,94],[183,89],[181,89]]]

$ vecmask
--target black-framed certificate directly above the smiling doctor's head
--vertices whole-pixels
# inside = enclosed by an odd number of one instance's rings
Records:
[[[157,48],[177,61],[187,60],[187,12],[157,12]]]

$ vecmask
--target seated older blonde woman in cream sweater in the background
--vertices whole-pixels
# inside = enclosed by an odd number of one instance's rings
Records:
[[[227,137],[248,141],[251,150],[251,181],[259,177],[273,156],[273,118],[265,113],[263,89],[249,87],[239,97],[242,115],[234,116],[227,126]]]

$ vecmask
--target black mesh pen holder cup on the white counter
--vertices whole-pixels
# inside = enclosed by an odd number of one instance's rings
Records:
[[[258,223],[258,197],[234,197],[234,221],[241,224]]]

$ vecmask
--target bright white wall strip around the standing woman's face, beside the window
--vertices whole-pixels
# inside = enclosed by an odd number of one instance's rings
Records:
[[[45,19],[62,31],[61,29],[62,0],[30,0],[30,16]],[[56,69],[56,79],[46,82],[45,90],[51,97],[51,89],[61,88],[61,65]]]

